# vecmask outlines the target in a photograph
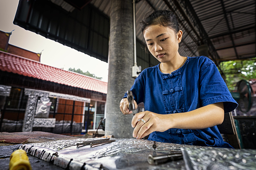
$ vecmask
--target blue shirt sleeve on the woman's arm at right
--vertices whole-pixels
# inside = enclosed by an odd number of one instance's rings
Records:
[[[223,102],[224,112],[233,111],[238,104],[233,99],[216,65],[209,59],[199,73],[200,101],[202,106]]]

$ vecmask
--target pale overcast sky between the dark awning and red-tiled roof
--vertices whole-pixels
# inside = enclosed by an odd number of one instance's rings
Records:
[[[9,44],[41,53],[41,63],[68,70],[69,68],[89,71],[102,81],[108,82],[108,63],[64,46],[58,42],[14,25],[19,0],[0,0],[0,30],[12,32]]]

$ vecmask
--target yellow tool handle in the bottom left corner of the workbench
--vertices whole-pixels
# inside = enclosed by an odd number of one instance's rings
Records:
[[[12,152],[9,170],[32,170],[26,151],[18,149]]]

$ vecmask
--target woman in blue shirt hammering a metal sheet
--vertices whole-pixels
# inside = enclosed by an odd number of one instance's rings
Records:
[[[154,11],[141,22],[150,53],[160,62],[143,70],[131,91],[144,112],[133,116],[133,137],[176,144],[228,147],[216,125],[237,107],[216,65],[205,56],[178,52],[182,31],[171,11]],[[131,114],[126,95],[122,113]],[[141,120],[140,120],[141,119]],[[139,121],[138,121],[139,120]]]

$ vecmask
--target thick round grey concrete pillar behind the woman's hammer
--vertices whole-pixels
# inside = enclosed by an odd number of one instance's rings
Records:
[[[133,65],[132,0],[111,0],[105,135],[132,138],[133,115],[123,115],[119,102],[133,85]]]

